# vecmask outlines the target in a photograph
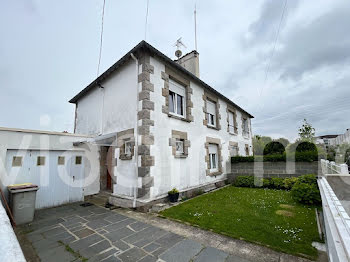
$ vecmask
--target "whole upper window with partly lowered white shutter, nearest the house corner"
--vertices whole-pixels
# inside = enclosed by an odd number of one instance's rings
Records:
[[[173,80],[169,80],[169,113],[185,117],[186,88]]]

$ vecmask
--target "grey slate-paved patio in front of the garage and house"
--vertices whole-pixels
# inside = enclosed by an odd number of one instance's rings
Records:
[[[22,230],[41,261],[249,262],[95,205],[36,211]]]

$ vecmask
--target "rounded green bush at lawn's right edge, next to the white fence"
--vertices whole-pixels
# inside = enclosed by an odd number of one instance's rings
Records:
[[[295,201],[303,204],[318,205],[321,203],[320,191],[315,184],[296,182],[290,191]]]

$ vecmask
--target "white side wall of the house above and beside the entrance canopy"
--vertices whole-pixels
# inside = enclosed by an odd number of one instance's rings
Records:
[[[77,103],[76,132],[105,135],[136,127],[137,72],[134,60],[112,73],[101,85],[95,87]],[[120,160],[115,151],[117,166],[114,170],[116,185],[113,193],[132,196],[137,185],[135,158]]]

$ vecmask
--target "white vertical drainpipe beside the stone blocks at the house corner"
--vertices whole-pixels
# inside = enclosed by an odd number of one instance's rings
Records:
[[[134,56],[133,53],[130,54],[131,58],[135,61],[135,67],[136,67],[136,125],[135,125],[135,174],[136,174],[136,186],[134,186],[134,200],[132,203],[132,207],[136,207],[136,198],[137,198],[137,187],[138,187],[138,177],[139,177],[139,165],[138,165],[138,147],[139,147],[139,130],[138,130],[138,112],[139,112],[139,83],[138,83],[138,76],[139,76],[139,60]]]

